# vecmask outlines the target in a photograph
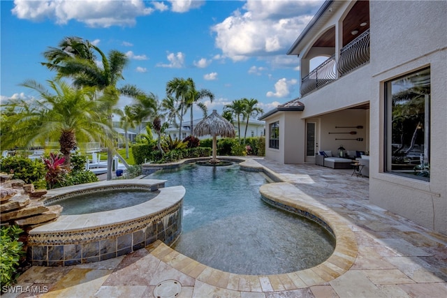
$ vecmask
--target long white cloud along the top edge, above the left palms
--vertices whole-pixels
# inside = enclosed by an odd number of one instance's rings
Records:
[[[115,0],[15,0],[13,14],[20,19],[43,21],[54,20],[57,24],[67,24],[76,20],[89,27],[133,26],[135,18],[149,15],[154,8],[145,6],[145,1]]]

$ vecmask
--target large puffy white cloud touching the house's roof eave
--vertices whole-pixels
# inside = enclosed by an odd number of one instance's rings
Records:
[[[248,0],[212,27],[215,45],[233,61],[284,54],[322,1]]]

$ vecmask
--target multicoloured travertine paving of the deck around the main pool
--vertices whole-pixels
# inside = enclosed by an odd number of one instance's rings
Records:
[[[352,170],[262,158],[245,165],[265,167],[283,181],[278,191],[268,187],[264,195],[305,200],[335,214],[348,228],[346,235],[353,235],[354,247],[341,248],[330,265],[247,276],[206,267],[158,241],[103,262],[31,267],[17,285],[45,286],[49,292],[2,297],[153,297],[156,286],[168,280],[182,285],[176,297],[447,297],[447,237],[369,204],[368,178],[351,177]]]

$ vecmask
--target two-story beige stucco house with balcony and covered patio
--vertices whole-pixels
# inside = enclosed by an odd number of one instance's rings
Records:
[[[301,97],[260,118],[266,158],[368,151],[370,202],[447,234],[446,15],[447,1],[325,1],[287,53]]]

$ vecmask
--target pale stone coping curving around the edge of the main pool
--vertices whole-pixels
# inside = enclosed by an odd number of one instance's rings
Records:
[[[198,158],[197,158],[198,159]],[[178,167],[184,163],[192,163],[197,160],[182,160],[177,163],[166,165],[166,167]],[[226,156],[219,157],[221,160],[228,160]],[[247,292],[272,292],[281,290],[297,290],[307,288],[312,285],[328,283],[341,276],[351,268],[358,255],[358,246],[354,232],[349,228],[342,216],[339,216],[328,207],[306,195],[299,188],[290,184],[286,177],[277,174],[272,170],[263,167],[254,158],[230,158],[239,161],[243,170],[263,172],[274,183],[264,184],[260,188],[263,198],[276,202],[277,207],[284,209],[296,209],[304,213],[312,214],[323,221],[330,228],[330,232],[335,236],[335,250],[330,257],[315,267],[294,271],[286,274],[271,275],[244,275],[233,274],[219,269],[214,269],[197,262],[181,253],[178,253],[170,246],[156,241],[147,246],[147,250],[159,260],[181,271],[182,273],[195,278],[198,281],[214,285],[227,290],[239,290]],[[278,206],[279,205],[279,206]],[[289,207],[289,208],[287,208]]]

